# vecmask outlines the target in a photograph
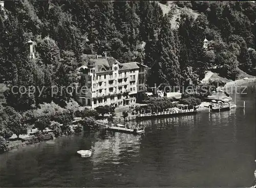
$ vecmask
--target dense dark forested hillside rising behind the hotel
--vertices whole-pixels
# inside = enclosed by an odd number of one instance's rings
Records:
[[[150,86],[196,85],[213,67],[233,80],[239,69],[255,75],[255,3],[161,3],[171,6],[168,13],[154,1],[5,1],[0,83],[48,88],[40,96],[6,94],[7,102],[16,110],[50,102],[52,85],[77,83],[75,69],[83,53],[106,51],[121,63],[152,67]],[[176,6],[182,9],[174,29],[170,20]],[[195,18],[187,7],[200,15]],[[205,38],[208,49],[203,48]],[[36,42],[33,61],[28,59],[29,40]]]

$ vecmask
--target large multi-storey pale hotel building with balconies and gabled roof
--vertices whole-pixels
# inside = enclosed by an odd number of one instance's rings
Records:
[[[148,67],[137,62],[120,63],[109,57],[87,57],[79,68],[77,101],[96,108],[100,105],[130,105],[146,91]]]

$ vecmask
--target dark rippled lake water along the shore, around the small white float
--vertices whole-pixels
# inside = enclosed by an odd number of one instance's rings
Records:
[[[0,186],[251,186],[255,86],[236,99],[227,112],[143,121],[141,136],[101,131],[12,150],[0,155]],[[76,154],[91,148],[90,158]]]

